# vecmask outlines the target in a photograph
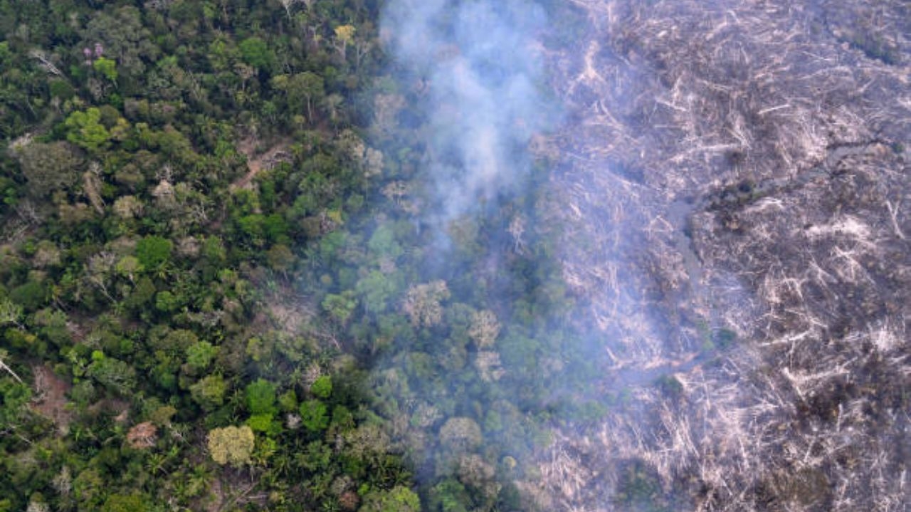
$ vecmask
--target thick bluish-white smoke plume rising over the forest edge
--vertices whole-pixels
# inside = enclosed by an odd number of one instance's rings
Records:
[[[537,4],[401,0],[383,18],[404,77],[424,82],[435,186],[432,216],[445,222],[513,191],[527,173],[531,136],[553,126],[538,89]]]

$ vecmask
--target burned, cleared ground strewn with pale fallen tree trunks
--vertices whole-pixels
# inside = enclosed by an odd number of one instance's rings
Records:
[[[621,399],[539,505],[911,507],[911,5],[573,3],[534,149]]]

